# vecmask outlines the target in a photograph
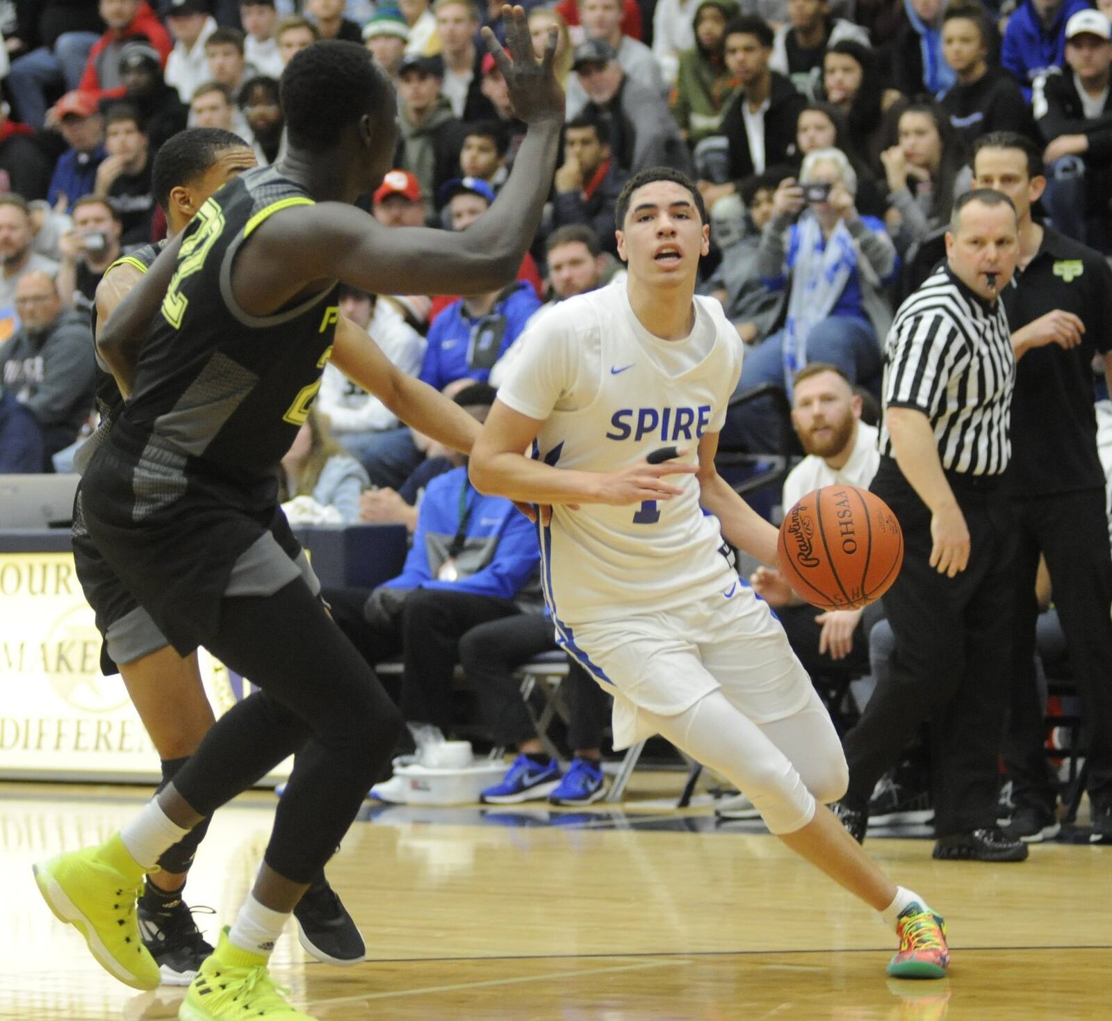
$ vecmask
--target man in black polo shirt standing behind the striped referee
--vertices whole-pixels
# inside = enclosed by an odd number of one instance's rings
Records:
[[[1100,252],[1032,220],[1031,204],[1046,179],[1041,153],[1022,135],[999,131],[977,139],[973,172],[980,186],[1007,195],[1020,218],[1015,279],[1000,296],[1019,363],[1007,472],[1019,549],[1004,739],[1014,809],[1004,831],[1024,841],[1059,831],[1034,670],[1034,589],[1042,554],[1081,696],[1093,836],[1110,840],[1112,553],[1091,366],[1094,354],[1104,355],[1112,384],[1112,270]]]

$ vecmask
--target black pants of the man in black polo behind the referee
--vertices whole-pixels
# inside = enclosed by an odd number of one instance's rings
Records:
[[[1012,800],[1050,813],[1058,800],[1046,762],[1046,727],[1034,668],[1039,616],[1034,589],[1041,553],[1081,698],[1089,794],[1095,803],[1103,803],[1112,799],[1112,554],[1104,490],[1023,497],[1012,505],[1019,522],[1019,549],[1011,706],[1004,739]]]

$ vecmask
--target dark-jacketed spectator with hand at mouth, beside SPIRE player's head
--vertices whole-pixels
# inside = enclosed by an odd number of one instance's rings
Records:
[[[553,227],[583,224],[617,255],[614,207],[629,177],[610,159],[610,132],[597,118],[579,115],[564,127],[564,163],[556,171]]]

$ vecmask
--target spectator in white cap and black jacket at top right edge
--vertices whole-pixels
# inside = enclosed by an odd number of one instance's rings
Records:
[[[1100,11],[1065,27],[1068,69],[1035,80],[1031,106],[1045,141],[1043,202],[1063,232],[1112,252],[1112,31]]]

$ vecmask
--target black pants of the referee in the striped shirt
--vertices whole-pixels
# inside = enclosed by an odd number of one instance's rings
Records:
[[[903,569],[884,596],[896,647],[888,678],[844,740],[844,801],[863,811],[876,781],[931,721],[939,836],[996,824],[1015,551],[1011,505],[997,480],[947,478],[970,532],[969,566],[953,578],[930,566],[931,512],[895,462],[882,459],[873,479],[871,489],[904,534]]]

